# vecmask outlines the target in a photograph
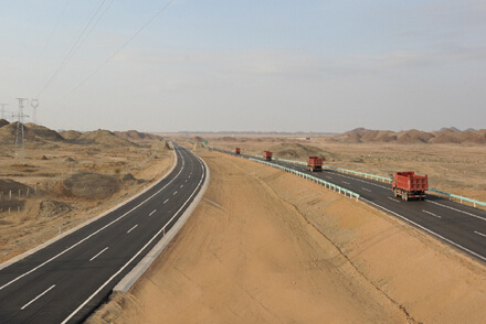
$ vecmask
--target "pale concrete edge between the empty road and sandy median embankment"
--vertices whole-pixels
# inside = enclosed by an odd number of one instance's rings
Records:
[[[127,274],[125,276],[113,289],[114,291],[123,291],[127,292],[134,284],[137,282],[137,280],[147,271],[147,269],[154,263],[154,261],[157,259],[157,257],[163,251],[163,249],[169,245],[169,242],[172,240],[172,238],[179,233],[179,230],[182,228],[182,226],[186,224],[186,222],[189,219],[189,216],[191,216],[192,212],[196,209],[196,207],[199,205],[199,202],[202,199],[202,196],[204,195],[210,180],[210,171],[208,165],[205,164],[204,160],[202,160],[198,154],[193,153],[201,162],[204,164],[207,175],[204,183],[201,187],[201,191],[196,196],[196,198],[192,201],[191,205],[186,209],[186,212],[182,214],[182,216],[179,217],[179,219],[173,224],[172,228],[158,242],[157,245],[147,253],[147,256],[144,257],[144,259],[138,262],[137,266]]]

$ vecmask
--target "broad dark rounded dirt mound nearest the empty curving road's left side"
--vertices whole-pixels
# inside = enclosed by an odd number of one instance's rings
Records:
[[[116,176],[98,173],[77,173],[54,185],[53,193],[60,196],[84,199],[103,199],[120,188]]]

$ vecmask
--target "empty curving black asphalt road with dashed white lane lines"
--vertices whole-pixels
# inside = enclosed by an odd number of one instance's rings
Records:
[[[108,296],[202,187],[203,163],[175,147],[177,165],[156,186],[0,270],[0,323],[78,323]]]

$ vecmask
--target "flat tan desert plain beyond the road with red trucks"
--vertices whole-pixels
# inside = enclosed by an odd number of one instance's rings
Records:
[[[277,158],[306,161],[321,154],[327,165],[391,177],[397,171],[429,174],[431,187],[486,202],[486,148],[471,144],[339,143],[328,137],[297,140],[282,137],[201,134],[209,145],[245,154],[271,150]],[[179,138],[184,138],[182,134]],[[186,137],[187,138],[187,137]]]

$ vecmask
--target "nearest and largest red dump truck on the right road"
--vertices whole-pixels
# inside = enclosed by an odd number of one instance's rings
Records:
[[[394,196],[401,196],[405,202],[410,198],[425,199],[425,191],[429,190],[427,175],[418,175],[413,171],[395,172],[391,185]]]

